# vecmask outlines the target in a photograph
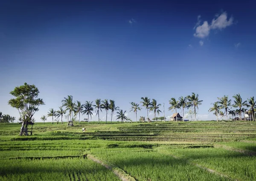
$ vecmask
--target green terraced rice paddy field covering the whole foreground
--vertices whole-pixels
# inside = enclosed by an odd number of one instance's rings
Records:
[[[85,127],[86,131],[81,132]],[[256,123],[0,124],[0,181],[256,181]]]

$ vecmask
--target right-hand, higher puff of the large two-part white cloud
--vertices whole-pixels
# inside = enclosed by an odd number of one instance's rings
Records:
[[[232,24],[233,24],[233,17],[230,17],[230,19],[227,20],[227,13],[224,12],[220,16],[217,16],[217,19],[212,20],[211,29],[221,30]]]

